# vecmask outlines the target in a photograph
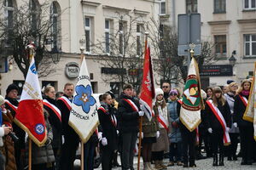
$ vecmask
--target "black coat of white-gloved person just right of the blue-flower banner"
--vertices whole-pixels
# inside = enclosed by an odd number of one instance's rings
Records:
[[[104,110],[98,109],[99,121],[101,124],[100,131],[102,132],[102,138],[108,140],[108,145],[102,147],[108,147],[109,150],[118,149],[118,134],[117,134],[117,121],[113,118],[113,110],[108,108],[107,105],[102,105]],[[112,119],[113,118],[113,119]],[[114,120],[114,122],[113,122]]]

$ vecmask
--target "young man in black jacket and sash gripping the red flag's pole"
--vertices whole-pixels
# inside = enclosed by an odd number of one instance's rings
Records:
[[[132,98],[133,87],[125,84],[119,101],[119,130],[122,135],[122,169],[134,169],[133,157],[137,141],[139,116],[144,112],[140,111],[139,103]]]

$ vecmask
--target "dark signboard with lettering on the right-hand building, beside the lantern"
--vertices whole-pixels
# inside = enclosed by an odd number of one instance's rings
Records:
[[[232,65],[203,65],[200,69],[201,77],[230,77],[233,76]]]

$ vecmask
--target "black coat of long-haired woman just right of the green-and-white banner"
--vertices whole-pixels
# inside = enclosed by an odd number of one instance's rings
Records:
[[[221,112],[222,116],[224,116],[224,120],[226,122],[227,127],[231,127],[231,116],[230,116],[230,106],[227,101],[225,101],[224,105],[218,103],[218,110]],[[220,122],[218,122],[217,117],[212,112],[210,106],[206,105],[206,126],[212,129],[223,129]]]

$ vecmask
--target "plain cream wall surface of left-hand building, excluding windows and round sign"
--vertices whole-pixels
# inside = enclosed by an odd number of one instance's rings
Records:
[[[19,7],[21,1],[16,1]],[[39,2],[42,4],[44,0]],[[40,83],[42,81],[55,81],[57,91],[61,91],[66,82],[77,82],[76,79],[68,79],[64,71],[65,65],[68,62],[80,64],[79,40],[84,38],[84,16],[90,16],[94,20],[92,30],[94,41],[103,37],[106,18],[114,20],[114,26],[117,28],[119,18],[115,14],[116,12],[128,12],[132,16],[142,15],[145,21],[149,20],[150,17],[153,17],[154,20],[159,20],[158,3],[154,3],[151,0],[86,0],[86,3],[83,3],[83,5],[79,0],[57,0],[57,2],[61,6],[61,50],[64,54],[62,54],[60,62],[55,65],[57,72],[39,79]],[[137,11],[136,14],[134,9]],[[128,21],[129,18],[126,18],[126,20]],[[142,22],[142,18],[137,21]],[[91,82],[97,82],[96,93],[104,93],[110,90],[110,86],[109,83],[102,81],[102,76],[105,75],[101,74],[101,65],[96,62],[95,57],[86,54],[86,63],[89,74],[93,73],[94,76]],[[5,89],[13,80],[24,80],[16,65],[8,73],[1,75],[2,86],[0,94],[3,95],[5,95]]]

